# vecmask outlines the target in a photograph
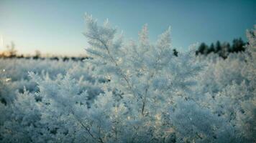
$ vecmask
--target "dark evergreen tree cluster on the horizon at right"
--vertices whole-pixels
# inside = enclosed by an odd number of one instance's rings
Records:
[[[216,41],[216,44],[211,43],[210,46],[205,44],[204,42],[200,44],[198,47],[198,50],[196,51],[196,55],[198,54],[203,54],[203,55],[208,55],[210,53],[218,54],[222,58],[226,59],[229,53],[234,53],[234,52],[241,52],[244,51],[245,48],[244,46],[246,43],[242,41],[241,38],[239,39],[234,39],[232,41],[232,45],[229,44],[228,42],[223,42],[221,43],[220,41]]]

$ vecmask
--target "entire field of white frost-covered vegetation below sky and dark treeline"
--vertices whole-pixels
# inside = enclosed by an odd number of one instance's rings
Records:
[[[86,26],[92,59],[0,60],[0,142],[256,142],[255,29],[222,59]]]

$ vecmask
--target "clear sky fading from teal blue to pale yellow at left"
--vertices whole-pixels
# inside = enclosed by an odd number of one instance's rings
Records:
[[[180,50],[201,41],[246,40],[245,29],[256,24],[255,0],[0,0],[0,44],[3,37],[4,45],[14,41],[19,53],[84,54],[85,12],[99,23],[108,18],[126,39],[137,39],[142,25],[148,24],[155,41],[171,26],[173,46]]]

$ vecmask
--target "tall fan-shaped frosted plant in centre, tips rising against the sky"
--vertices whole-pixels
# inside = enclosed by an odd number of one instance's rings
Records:
[[[150,104],[172,97],[167,94],[186,93],[194,84],[193,76],[201,66],[193,59],[193,51],[173,56],[170,28],[159,36],[156,44],[150,44],[147,26],[143,26],[139,44],[132,41],[124,45],[108,21],[98,26],[87,15],[86,24],[85,35],[91,44],[86,51],[93,56],[98,73],[111,80],[111,87],[122,91],[120,97],[132,95],[142,116],[150,114]]]

